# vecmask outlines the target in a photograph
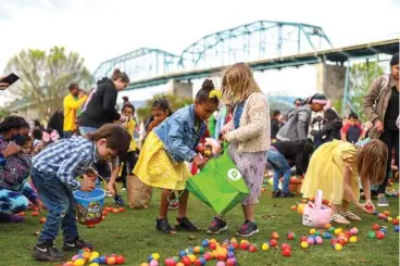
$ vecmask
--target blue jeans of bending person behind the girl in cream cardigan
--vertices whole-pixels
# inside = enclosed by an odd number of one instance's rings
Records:
[[[278,185],[279,185],[279,177],[280,175],[284,176],[284,182],[283,182],[283,191],[288,192],[289,191],[289,182],[290,182],[290,166],[288,162],[286,161],[286,157],[276,149],[271,149],[267,156],[268,164],[274,169],[274,191],[278,191]]]

